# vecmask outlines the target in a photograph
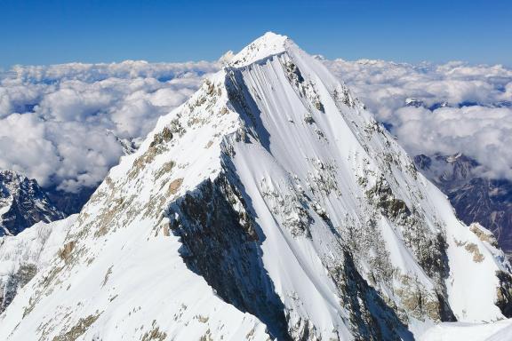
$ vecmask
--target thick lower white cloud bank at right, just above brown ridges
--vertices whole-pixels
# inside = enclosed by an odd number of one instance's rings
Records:
[[[488,168],[491,178],[512,178],[512,109],[442,107],[396,111],[395,133],[413,155],[463,152]]]

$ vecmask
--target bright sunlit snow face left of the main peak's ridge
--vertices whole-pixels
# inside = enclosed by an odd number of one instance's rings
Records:
[[[240,126],[226,107],[224,79],[204,83],[110,171],[69,231],[63,257],[2,315],[0,339],[267,338],[258,318],[189,270],[166,214],[220,174],[220,142]]]

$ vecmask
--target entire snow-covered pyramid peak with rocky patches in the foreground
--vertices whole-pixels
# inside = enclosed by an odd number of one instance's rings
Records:
[[[113,168],[0,338],[411,339],[510,313],[508,263],[271,33]]]

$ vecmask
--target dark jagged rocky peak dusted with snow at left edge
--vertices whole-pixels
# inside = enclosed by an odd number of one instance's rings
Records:
[[[39,221],[64,218],[36,180],[0,171],[0,236],[19,234]]]

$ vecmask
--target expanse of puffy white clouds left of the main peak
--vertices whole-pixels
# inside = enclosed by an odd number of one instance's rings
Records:
[[[0,169],[75,192],[123,155],[119,139],[148,134],[216,63],[13,67],[0,78]]]

